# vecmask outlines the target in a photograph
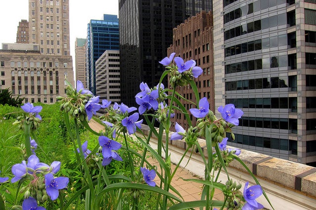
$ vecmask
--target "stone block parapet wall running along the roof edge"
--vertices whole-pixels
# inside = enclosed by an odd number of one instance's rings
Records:
[[[144,134],[149,133],[149,127],[142,125]],[[170,134],[171,135],[171,134]],[[155,139],[154,137],[152,139]],[[163,138],[165,139],[165,138]],[[205,140],[198,139],[205,157],[207,151]],[[186,149],[184,140],[173,140],[170,143],[179,149]],[[229,146],[227,146],[229,147]],[[199,153],[196,155],[200,156]],[[274,158],[265,154],[241,149],[239,158],[257,178],[272,184],[315,199],[316,203],[316,168],[301,163]],[[236,160],[229,164],[231,170],[247,173],[246,169]],[[238,173],[239,173],[238,172]],[[194,173],[194,172],[193,172]]]

